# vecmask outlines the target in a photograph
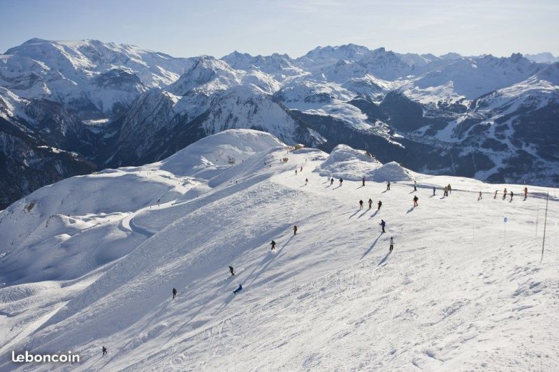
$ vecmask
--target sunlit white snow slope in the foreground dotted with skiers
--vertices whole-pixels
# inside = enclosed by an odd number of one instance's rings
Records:
[[[120,249],[122,235],[112,236],[106,226],[116,224],[126,235],[125,254],[88,269],[64,269],[66,255],[57,249],[61,256],[53,261],[52,244],[41,242],[41,234],[54,239],[42,228],[45,217],[38,216],[43,200],[61,193],[65,181],[48,186],[54,194],[42,188],[1,212],[1,240],[12,234],[15,243],[0,250],[0,371],[559,369],[555,190],[528,186],[524,199],[523,185],[417,174],[349,147],[331,155],[292,151],[268,133],[249,130],[205,141],[207,147],[193,144],[175,155],[177,163],[171,157],[117,170],[136,177],[143,172],[138,186],[154,185],[139,198],[129,192],[135,184],[113,177],[99,191],[106,193],[107,205],[119,200],[113,209],[82,207],[115,216],[97,218],[94,232],[85,225],[71,230],[60,217],[56,239],[82,236],[65,247],[66,254],[79,253],[73,257]],[[224,154],[227,141],[227,151],[240,159],[235,165],[216,156]],[[289,161],[280,162],[283,157]],[[210,171],[201,169],[204,164]],[[324,174],[335,177],[333,185]],[[386,191],[384,180],[391,175],[400,180],[394,178]],[[68,182],[85,184],[91,177]],[[150,189],[162,184],[168,193],[158,203],[161,191],[152,195]],[[444,198],[447,184],[453,191]],[[504,187],[514,191],[511,202],[509,195],[502,198]],[[36,209],[24,211],[33,200]],[[75,204],[65,209],[66,218],[91,217],[77,207],[80,199]],[[54,202],[49,205],[50,214],[60,212]],[[381,218],[386,234],[380,232]],[[390,237],[395,248],[389,254]],[[36,272],[6,271],[13,257]],[[41,276],[50,265],[57,265],[57,274]],[[239,284],[244,289],[233,295]],[[105,357],[102,345],[108,348]],[[71,350],[82,361],[13,364],[11,350]]]

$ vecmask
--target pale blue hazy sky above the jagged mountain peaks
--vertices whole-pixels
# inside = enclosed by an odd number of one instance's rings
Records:
[[[93,38],[175,57],[298,57],[356,43],[395,52],[559,55],[559,1],[0,0],[0,52],[29,38]]]

